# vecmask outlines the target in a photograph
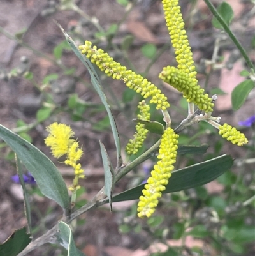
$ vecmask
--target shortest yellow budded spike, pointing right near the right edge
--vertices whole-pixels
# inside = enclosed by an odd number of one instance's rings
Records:
[[[233,144],[237,144],[237,146],[244,146],[244,144],[248,143],[244,133],[240,133],[235,127],[226,123],[219,126],[219,135],[222,135],[223,138],[226,138]]]

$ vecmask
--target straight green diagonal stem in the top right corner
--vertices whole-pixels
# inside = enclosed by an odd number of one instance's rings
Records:
[[[218,22],[223,27],[224,31],[230,36],[231,40],[233,41],[233,43],[235,43],[235,45],[238,48],[238,50],[240,50],[240,53],[242,54],[242,56],[244,57],[244,59],[245,59],[245,61],[247,63],[247,66],[249,66],[249,68],[254,72],[255,68],[254,68],[254,66],[253,66],[253,64],[251,62],[251,59],[248,57],[247,53],[244,50],[244,47],[242,47],[242,45],[238,41],[238,39],[235,36],[235,34],[233,34],[233,32],[230,30],[230,27],[222,19],[221,15],[218,13],[218,11],[215,9],[215,7],[212,5],[210,0],[204,0],[204,1],[207,4],[208,9],[212,12],[214,17],[218,20]]]

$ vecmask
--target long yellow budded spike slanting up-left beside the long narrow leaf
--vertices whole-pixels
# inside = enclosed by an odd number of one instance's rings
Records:
[[[92,47],[90,41],[85,41],[84,45],[79,46],[79,49],[106,75],[113,79],[123,80],[126,86],[136,91],[136,93],[140,93],[143,98],[152,98],[150,103],[156,104],[156,109],[165,110],[170,107],[166,96],[154,84],[143,78],[142,75],[121,66],[102,49],[97,49],[96,46]]]

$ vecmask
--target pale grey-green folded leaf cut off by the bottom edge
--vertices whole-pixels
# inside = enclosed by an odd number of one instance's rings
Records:
[[[57,236],[59,237],[60,244],[68,250],[68,256],[85,256],[84,253],[76,248],[73,234],[68,224],[62,221],[59,222],[59,233]],[[61,239],[62,241],[60,241]]]

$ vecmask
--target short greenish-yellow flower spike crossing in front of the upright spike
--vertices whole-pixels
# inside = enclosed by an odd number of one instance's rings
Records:
[[[200,110],[213,111],[214,103],[212,103],[212,99],[208,94],[204,94],[205,90],[198,86],[196,79],[189,77],[187,73],[173,66],[167,66],[163,68],[159,78],[182,92],[187,102],[198,105]]]

